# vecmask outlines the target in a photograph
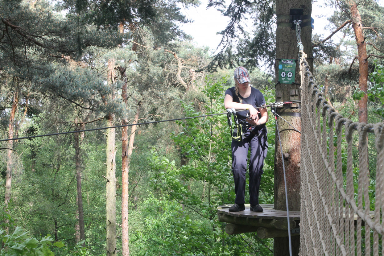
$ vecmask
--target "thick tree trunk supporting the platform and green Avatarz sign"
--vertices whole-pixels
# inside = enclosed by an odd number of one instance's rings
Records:
[[[303,8],[303,15],[311,15],[312,5],[310,0],[277,0],[276,15],[290,15],[291,8]],[[308,21],[308,20],[303,20]],[[289,20],[278,18],[278,23],[287,23]],[[301,41],[304,46],[304,51],[308,58],[312,57],[312,30],[311,26],[301,28]],[[290,101],[291,90],[299,91],[300,87],[300,64],[296,62],[295,84],[280,84],[278,83],[278,59],[298,59],[299,48],[297,46],[297,38],[295,30],[278,25],[276,28],[276,101]],[[312,59],[308,62],[312,64]],[[311,65],[312,66],[312,65]],[[301,129],[301,110],[298,107],[284,105],[283,108],[277,108],[276,112],[286,121],[292,124],[296,129]],[[291,211],[300,211],[300,134],[293,130],[289,124],[281,118],[277,118],[277,127],[280,131],[282,152],[280,142],[276,131],[275,143],[275,209],[286,210],[285,200],[285,184],[283,175],[283,161],[285,164],[286,186],[288,190],[288,208]],[[281,157],[284,155],[284,160]],[[292,253],[298,255],[300,248],[300,239],[292,239]],[[288,237],[275,238],[274,255],[285,256],[289,255]]]

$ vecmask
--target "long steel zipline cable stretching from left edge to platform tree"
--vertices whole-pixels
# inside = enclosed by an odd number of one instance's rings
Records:
[[[257,108],[265,108],[265,107],[273,107],[276,105],[281,105],[281,104],[291,104],[291,103],[298,103],[300,101],[285,101],[285,102],[274,102],[269,105],[263,106],[263,107],[257,107]],[[241,111],[246,111],[246,109],[238,110],[236,112],[241,112]],[[218,115],[223,115],[227,114],[227,112],[223,113],[216,113],[216,114],[209,114],[209,115],[202,115],[202,116],[191,116],[191,117],[182,117],[182,118],[176,118],[176,119],[167,119],[167,120],[160,120],[160,121],[152,121],[152,122],[144,122],[144,123],[137,123],[137,124],[124,124],[121,126],[109,126],[109,127],[99,127],[99,128],[93,128],[93,129],[85,129],[85,130],[72,130],[69,132],[57,132],[57,133],[51,133],[51,134],[42,134],[42,135],[34,135],[34,136],[26,136],[26,137],[18,137],[18,138],[12,138],[12,139],[3,139],[0,140],[0,142],[3,141],[9,141],[9,140],[22,140],[22,139],[33,139],[33,138],[38,138],[38,137],[46,137],[46,136],[54,136],[54,135],[62,135],[62,134],[71,134],[71,133],[76,133],[76,132],[90,132],[93,130],[106,130],[106,129],[111,129],[111,128],[120,128],[120,127],[129,127],[129,126],[141,126],[144,124],[157,124],[157,123],[162,123],[162,122],[172,122],[172,121],[179,121],[179,120],[186,120],[186,119],[193,119],[193,118],[200,118],[200,117],[209,117],[209,116],[218,116]]]

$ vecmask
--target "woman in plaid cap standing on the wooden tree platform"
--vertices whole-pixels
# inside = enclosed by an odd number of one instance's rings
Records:
[[[248,111],[237,112],[239,122],[244,122],[245,126],[242,141],[232,140],[232,173],[235,181],[236,198],[235,204],[229,208],[229,211],[245,210],[245,172],[247,170],[248,150],[250,149],[250,210],[261,212],[263,208],[259,205],[259,187],[268,147],[265,127],[265,123],[268,121],[268,113],[265,108],[256,109],[256,107],[265,105],[265,99],[258,89],[250,86],[247,69],[238,67],[235,69],[233,76],[235,86],[225,91],[224,106],[226,109],[247,109]],[[247,118],[248,112],[249,117]]]

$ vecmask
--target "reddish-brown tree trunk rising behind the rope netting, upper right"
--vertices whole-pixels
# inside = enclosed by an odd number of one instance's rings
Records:
[[[355,32],[356,44],[358,45],[358,60],[359,60],[359,88],[364,92],[364,96],[359,100],[359,122],[367,123],[368,110],[367,110],[367,90],[368,90],[368,60],[367,48],[364,38],[363,25],[361,23],[361,16],[356,5],[356,2],[349,1],[351,5],[352,27]]]

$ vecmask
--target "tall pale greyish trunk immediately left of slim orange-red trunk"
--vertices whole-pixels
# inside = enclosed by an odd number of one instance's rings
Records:
[[[108,59],[109,84],[114,81],[115,59]],[[113,95],[111,98],[113,99]],[[108,114],[107,126],[114,126],[114,114]],[[107,211],[107,256],[116,255],[116,146],[115,129],[107,129],[107,172],[106,172],[106,211]]]

